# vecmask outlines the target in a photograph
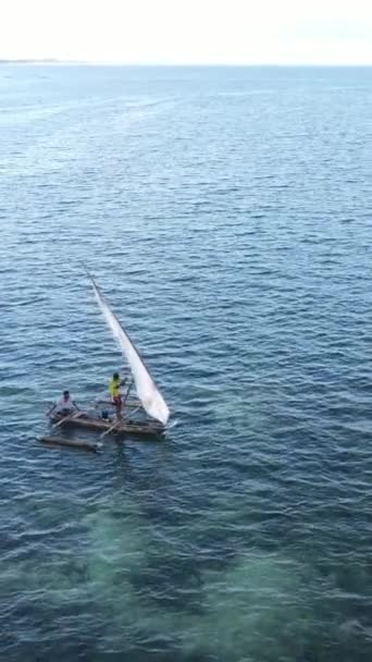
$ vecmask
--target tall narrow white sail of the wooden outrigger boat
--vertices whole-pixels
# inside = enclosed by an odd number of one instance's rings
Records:
[[[113,336],[117,340],[121,350],[129,364],[132,375],[136,384],[138,397],[140,399],[144,408],[157,420],[160,420],[163,425],[166,424],[170,417],[170,410],[162,394],[158,391],[154,381],[145,366],[141,357],[138,354],[135,345],[131,341],[127,333],[125,333],[119,319],[112,312],[108,304],[106,303],[102,294],[96,285],[91,275],[89,275],[92,289],[98,302],[98,305],[103,314],[106,321],[108,322]]]

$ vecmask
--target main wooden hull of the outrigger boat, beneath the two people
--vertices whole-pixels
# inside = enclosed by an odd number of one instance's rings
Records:
[[[54,420],[58,422],[58,419]],[[165,431],[164,427],[156,421],[136,421],[123,418],[123,421],[115,426],[112,420],[95,418],[87,414],[83,414],[79,417],[69,416],[63,419],[62,426],[74,426],[76,428],[84,428],[85,430],[95,430],[96,432],[108,432],[112,429],[113,434],[120,436],[141,434],[159,437]]]

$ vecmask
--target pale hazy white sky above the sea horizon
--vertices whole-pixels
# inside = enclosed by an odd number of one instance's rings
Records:
[[[0,58],[372,64],[372,0],[0,0]]]

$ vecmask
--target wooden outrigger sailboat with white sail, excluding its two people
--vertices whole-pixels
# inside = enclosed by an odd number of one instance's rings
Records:
[[[108,401],[97,401],[96,412],[77,412],[69,416],[51,418],[53,428],[64,426],[74,426],[86,430],[101,432],[101,438],[114,433],[125,436],[128,433],[140,434],[144,437],[159,437],[165,431],[165,426],[170,418],[170,408],[154,383],[151,373],[146,366],[144,358],[140,356],[134,342],[128,333],[124,331],[116,315],[111,310],[109,304],[104,299],[103,294],[98,287],[95,279],[87,272],[97,304],[103,315],[103,318],[112,332],[113,338],[117,342],[127,366],[131,371],[129,385],[123,399],[123,416],[114,418],[114,406]],[[129,401],[129,391],[135,388],[137,400]],[[131,409],[135,407],[135,412],[145,414],[140,418],[134,418],[134,413]],[[97,412],[98,409],[98,412]],[[98,450],[99,444],[92,444],[85,440],[64,439],[61,437],[47,436],[41,441],[57,445],[73,445],[85,448],[87,450]]]

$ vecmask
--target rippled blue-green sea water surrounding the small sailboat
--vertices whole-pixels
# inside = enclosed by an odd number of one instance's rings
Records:
[[[368,69],[0,69],[0,659],[370,662]],[[161,443],[37,441],[122,366]]]

